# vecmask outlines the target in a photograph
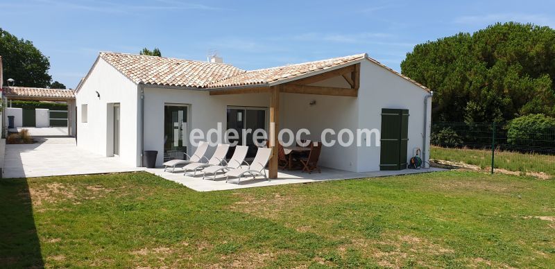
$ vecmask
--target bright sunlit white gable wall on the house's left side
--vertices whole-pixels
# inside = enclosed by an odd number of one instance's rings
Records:
[[[77,146],[103,156],[113,156],[113,122],[110,116],[114,103],[121,106],[119,159],[129,165],[140,166],[137,85],[101,58],[76,93]],[[87,105],[86,123],[81,118],[83,104]]]

